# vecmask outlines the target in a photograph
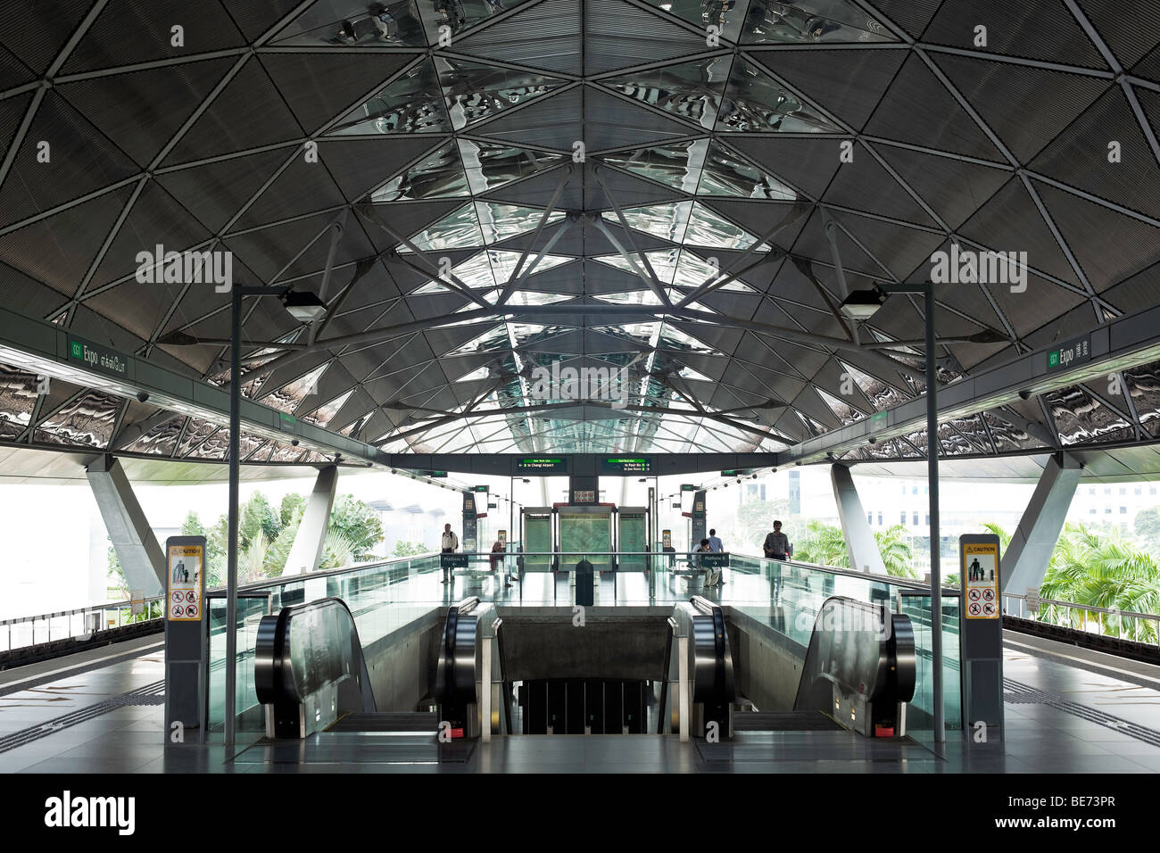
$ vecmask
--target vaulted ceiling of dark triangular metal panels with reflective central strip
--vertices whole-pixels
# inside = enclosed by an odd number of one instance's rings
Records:
[[[1157,302],[1158,43],[1148,0],[9,0],[0,306],[222,384],[227,295],[138,283],[136,254],[319,292],[342,222],[313,335],[247,299],[247,396],[391,451],[780,449],[923,388],[922,347],[889,346],[921,338],[915,302],[862,346],[835,318],[824,211],[854,288],[926,279],[952,237],[1028,252],[1025,292],[940,290],[944,382]],[[626,369],[626,405],[534,398],[553,362]],[[1155,439],[1155,366],[1122,379],[943,450]],[[0,373],[0,441],[225,453],[35,384]]]

